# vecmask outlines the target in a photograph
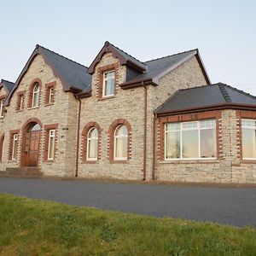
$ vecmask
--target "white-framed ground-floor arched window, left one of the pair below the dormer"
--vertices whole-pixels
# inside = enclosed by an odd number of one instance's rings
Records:
[[[87,160],[98,158],[98,131],[95,127],[88,131],[87,136]]]

